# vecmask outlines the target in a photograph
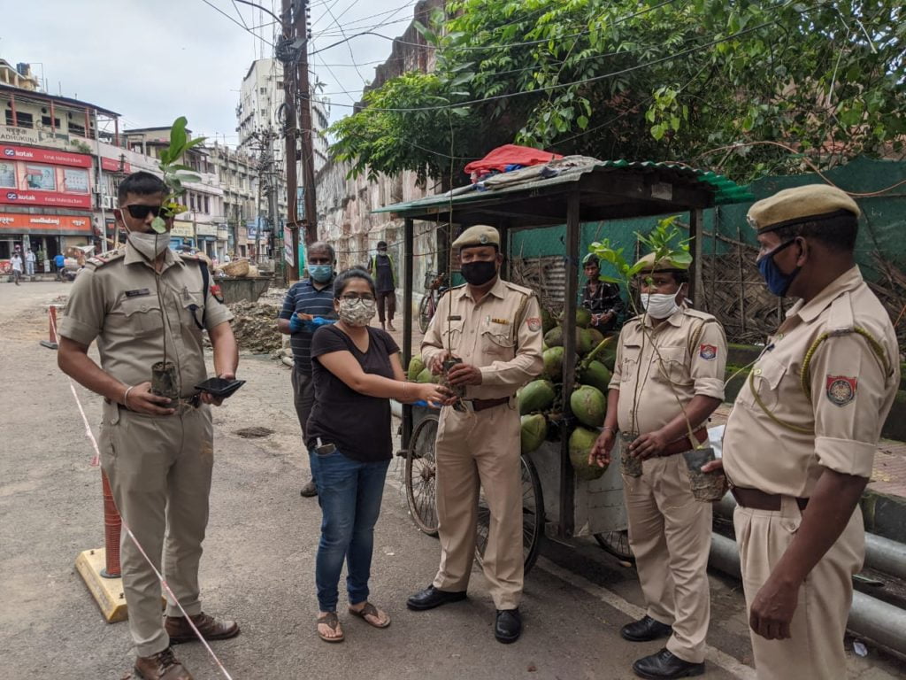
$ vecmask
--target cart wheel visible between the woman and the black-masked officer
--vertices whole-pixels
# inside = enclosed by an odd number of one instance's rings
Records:
[[[419,421],[406,452],[406,499],[412,521],[419,531],[438,535],[438,510],[435,507],[437,466],[434,442],[438,434],[438,416],[429,413]]]

